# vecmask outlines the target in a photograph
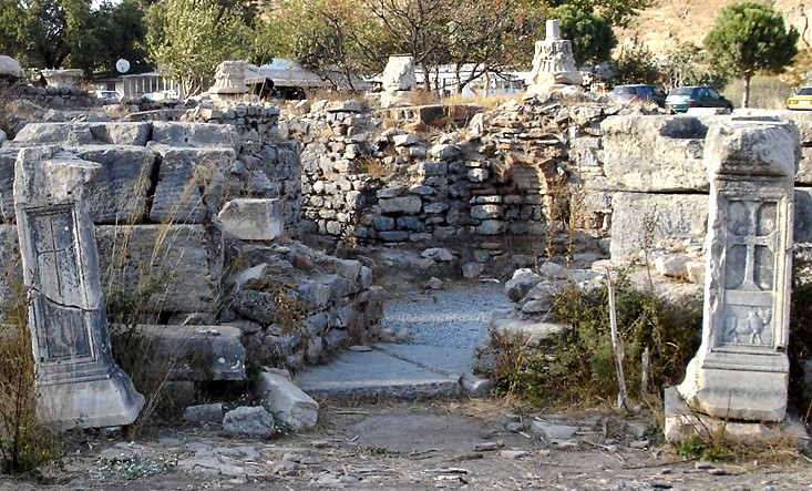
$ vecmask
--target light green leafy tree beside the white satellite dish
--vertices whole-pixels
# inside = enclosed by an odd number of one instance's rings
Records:
[[[241,12],[216,0],[166,0],[146,12],[150,59],[181,81],[185,95],[203,89],[224,60],[250,57],[251,31]]]

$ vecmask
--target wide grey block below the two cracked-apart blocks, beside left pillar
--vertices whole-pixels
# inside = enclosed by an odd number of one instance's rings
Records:
[[[143,295],[156,311],[213,313],[219,308],[223,237],[202,225],[96,227],[107,297]]]

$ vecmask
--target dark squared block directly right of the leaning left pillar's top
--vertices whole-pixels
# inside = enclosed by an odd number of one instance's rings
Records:
[[[80,158],[101,164],[92,184],[90,209],[95,224],[135,224],[146,216],[156,155],[143,146],[89,145],[72,149]]]

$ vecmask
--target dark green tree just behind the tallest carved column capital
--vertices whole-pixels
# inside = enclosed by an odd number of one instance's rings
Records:
[[[562,38],[573,43],[573,58],[578,63],[611,59],[617,38],[603,17],[573,4],[557,7],[551,13],[558,19]]]

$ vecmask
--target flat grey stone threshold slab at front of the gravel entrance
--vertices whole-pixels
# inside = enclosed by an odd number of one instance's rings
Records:
[[[411,354],[414,358],[420,358],[417,356],[419,350],[404,348],[402,351],[410,350],[415,351]],[[461,392],[461,372],[449,375],[428,370],[378,350],[346,351],[329,365],[302,371],[298,375],[296,383],[317,399],[409,400],[456,397]]]

